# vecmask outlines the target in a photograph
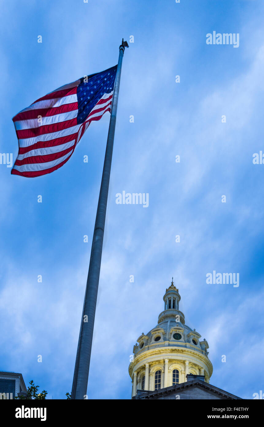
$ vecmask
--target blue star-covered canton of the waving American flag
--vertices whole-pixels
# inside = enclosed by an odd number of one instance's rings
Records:
[[[78,114],[77,123],[83,123],[104,94],[113,91],[117,65],[101,73],[82,77],[77,87]],[[85,81],[84,81],[85,80]]]

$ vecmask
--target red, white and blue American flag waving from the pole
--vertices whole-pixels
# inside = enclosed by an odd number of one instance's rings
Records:
[[[111,111],[116,69],[62,86],[13,117],[18,156],[11,173],[34,178],[64,165],[91,121]]]

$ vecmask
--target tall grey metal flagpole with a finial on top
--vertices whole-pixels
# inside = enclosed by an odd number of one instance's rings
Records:
[[[122,44],[119,46],[119,59],[116,70],[116,83],[113,93],[111,117],[107,136],[106,151],[104,156],[104,168],[97,206],[96,222],[93,232],[90,265],[84,297],[84,307],[82,312],[81,328],[73,376],[73,388],[71,397],[72,399],[85,399],[87,393],[91,348],[93,341],[93,325],[96,312],[96,300],[102,258],[104,223],[106,216],[107,196],[113,154],[113,141],[116,128],[116,112],[120,86],[122,59],[125,52],[125,47],[128,47],[128,44],[126,41],[124,42],[123,39]]]

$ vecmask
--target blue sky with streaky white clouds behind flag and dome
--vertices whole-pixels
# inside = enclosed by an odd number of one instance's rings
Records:
[[[133,345],[157,325],[174,276],[186,324],[209,343],[210,383],[252,399],[264,386],[264,165],[252,163],[264,151],[263,2],[1,8],[0,152],[14,161],[12,117],[112,67],[122,37],[134,36],[122,67],[88,398],[131,398]],[[206,44],[213,31],[239,33],[239,47]],[[92,123],[49,175],[23,178],[0,164],[0,370],[21,372],[50,399],[72,387],[108,124],[109,114]],[[149,207],[117,205],[122,190],[149,193]],[[239,287],[206,284],[213,270],[239,273]]]

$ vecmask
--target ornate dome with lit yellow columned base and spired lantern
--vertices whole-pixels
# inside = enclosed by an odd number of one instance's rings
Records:
[[[129,374],[133,381],[132,397],[137,390],[159,390],[186,382],[186,375],[200,375],[209,383],[213,367],[208,358],[206,339],[185,325],[179,310],[180,294],[174,286],[163,296],[164,310],[155,328],[142,333],[133,348]]]

